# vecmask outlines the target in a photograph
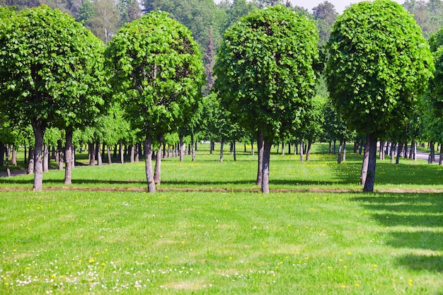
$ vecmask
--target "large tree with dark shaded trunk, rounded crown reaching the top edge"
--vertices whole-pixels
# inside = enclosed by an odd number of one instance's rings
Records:
[[[364,191],[374,190],[376,142],[403,127],[434,68],[413,16],[393,1],[347,8],[328,41],[330,97],[347,125],[369,135]]]

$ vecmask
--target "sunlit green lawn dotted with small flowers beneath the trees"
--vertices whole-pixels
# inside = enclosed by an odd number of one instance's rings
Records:
[[[443,168],[368,194],[360,161],[274,154],[268,195],[246,154],[166,158],[156,194],[143,163],[0,178],[0,294],[443,294]]]

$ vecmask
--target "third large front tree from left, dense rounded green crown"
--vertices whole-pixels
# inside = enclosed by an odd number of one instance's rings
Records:
[[[313,21],[283,6],[256,9],[224,33],[214,88],[234,122],[263,136],[262,192],[273,139],[300,127],[315,94],[317,38]]]

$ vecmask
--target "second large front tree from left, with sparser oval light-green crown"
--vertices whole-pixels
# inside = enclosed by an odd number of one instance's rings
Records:
[[[201,99],[205,74],[198,45],[168,13],[151,12],[114,36],[106,59],[132,126],[146,134],[146,180],[155,192],[152,142],[183,125]]]

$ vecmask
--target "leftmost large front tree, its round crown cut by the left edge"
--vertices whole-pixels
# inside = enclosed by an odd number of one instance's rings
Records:
[[[76,122],[93,95],[96,37],[74,18],[48,6],[0,19],[0,108],[27,120],[35,135],[34,189],[42,190],[42,144],[52,124]],[[74,110],[76,109],[76,110]]]

